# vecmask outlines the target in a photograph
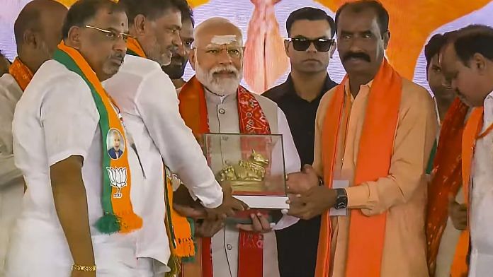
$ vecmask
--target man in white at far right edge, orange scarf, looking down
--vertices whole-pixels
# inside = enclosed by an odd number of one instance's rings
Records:
[[[467,213],[455,202],[449,207],[450,217],[456,228],[463,225],[467,228],[459,240],[450,273],[452,276],[466,275],[468,264],[468,276],[491,276],[493,28],[472,25],[448,34],[448,42],[443,47],[441,56],[446,86],[455,90],[467,105],[475,107],[465,126],[462,142],[463,191]],[[470,240],[467,231],[470,232]],[[467,257],[470,257],[469,261]]]

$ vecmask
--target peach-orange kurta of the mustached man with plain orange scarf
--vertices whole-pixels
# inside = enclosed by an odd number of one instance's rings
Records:
[[[345,143],[339,143],[337,165],[349,179],[348,208],[360,208],[366,216],[387,212],[385,246],[382,256],[382,277],[428,276],[426,238],[424,233],[426,207],[425,168],[436,139],[436,112],[429,93],[411,81],[403,80],[402,101],[395,134],[394,153],[389,175],[375,182],[354,186],[358,145],[368,104],[371,82],[361,86],[352,101]],[[322,98],[315,126],[313,166],[323,176],[322,127],[335,88]],[[348,93],[348,83],[346,83]],[[341,128],[344,132],[344,128]],[[341,134],[344,136],[344,134]],[[346,145],[344,151],[342,145]],[[332,275],[345,276],[350,218],[338,216],[332,220]],[[364,232],[364,230],[361,230]],[[371,240],[368,237],[368,240]]]

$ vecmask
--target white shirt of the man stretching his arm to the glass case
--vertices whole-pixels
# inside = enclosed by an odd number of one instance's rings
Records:
[[[120,71],[103,86],[118,103],[145,170],[145,202],[136,204],[145,217],[137,238],[137,257],[167,264],[163,160],[208,208],[222,204],[222,189],[183,122],[176,90],[159,64],[127,55]]]

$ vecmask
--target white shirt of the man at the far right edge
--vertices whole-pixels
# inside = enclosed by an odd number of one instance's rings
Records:
[[[485,99],[483,129],[493,123],[493,92]],[[476,142],[472,175],[470,277],[492,276],[493,269],[493,133]]]

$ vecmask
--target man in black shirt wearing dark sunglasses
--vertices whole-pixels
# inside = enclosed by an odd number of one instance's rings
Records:
[[[336,50],[334,20],[318,8],[300,8],[286,21],[285,52],[291,73],[285,83],[263,93],[286,114],[302,165],[313,163],[315,115],[322,96],[337,84],[327,73]],[[320,217],[276,230],[282,277],[312,277],[317,260]],[[302,256],[293,253],[304,253]]]

